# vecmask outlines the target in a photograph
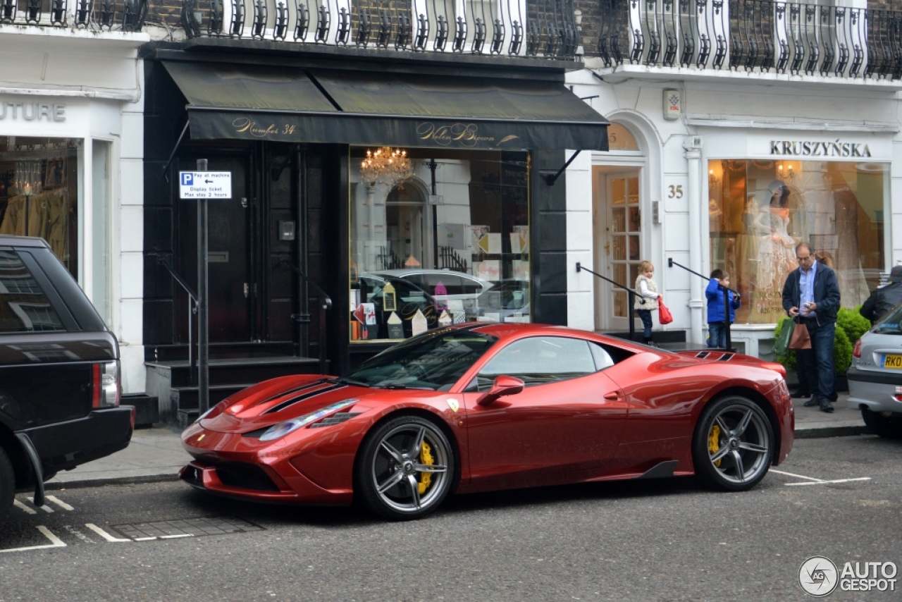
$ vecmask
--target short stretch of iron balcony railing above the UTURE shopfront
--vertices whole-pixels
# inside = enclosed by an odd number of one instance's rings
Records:
[[[0,24],[140,32],[148,0],[0,0]]]

